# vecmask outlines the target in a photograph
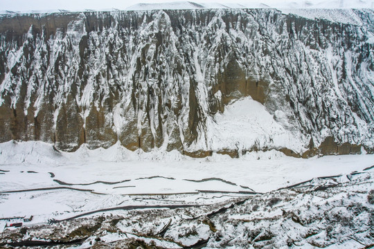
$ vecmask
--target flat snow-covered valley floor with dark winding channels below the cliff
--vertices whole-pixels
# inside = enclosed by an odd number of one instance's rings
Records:
[[[374,155],[301,159],[270,151],[193,159],[119,145],[60,153],[43,142],[6,142],[0,150],[0,218],[33,215],[27,225],[129,205],[222,203],[323,176],[344,183],[374,164]],[[0,220],[0,231],[15,221]]]

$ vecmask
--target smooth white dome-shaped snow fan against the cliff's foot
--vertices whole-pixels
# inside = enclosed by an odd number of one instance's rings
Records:
[[[276,112],[278,119],[282,116],[281,111]],[[264,148],[267,145],[274,145],[276,148],[290,148],[294,151],[303,151],[303,143],[306,140],[300,133],[292,133],[284,128],[281,122],[276,122],[274,116],[267,109],[251,97],[242,98],[229,104],[224,113],[215,115],[215,124],[208,127],[215,127],[212,133],[212,149],[218,151],[227,145],[234,143],[243,148]],[[304,141],[305,142],[305,141]]]

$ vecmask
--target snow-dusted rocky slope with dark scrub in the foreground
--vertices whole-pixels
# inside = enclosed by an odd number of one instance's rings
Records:
[[[6,229],[0,246],[371,248],[373,177],[373,170],[366,169],[214,205],[107,212]]]

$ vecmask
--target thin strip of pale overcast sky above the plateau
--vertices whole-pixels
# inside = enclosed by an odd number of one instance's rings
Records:
[[[28,10],[110,10],[116,8],[125,10],[136,3],[164,3],[181,0],[0,0],[0,10],[28,11]],[[252,3],[265,3],[274,8],[281,6],[299,6],[301,8],[373,8],[374,0],[185,0],[196,3],[242,3],[252,6]],[[318,7],[319,6],[319,7]]]

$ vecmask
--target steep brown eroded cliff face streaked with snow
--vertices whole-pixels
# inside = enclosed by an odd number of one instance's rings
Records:
[[[191,156],[373,151],[374,13],[355,15],[364,25],[268,9],[3,15],[0,141]],[[248,98],[271,119],[224,119]],[[241,138],[249,123],[256,136]]]

